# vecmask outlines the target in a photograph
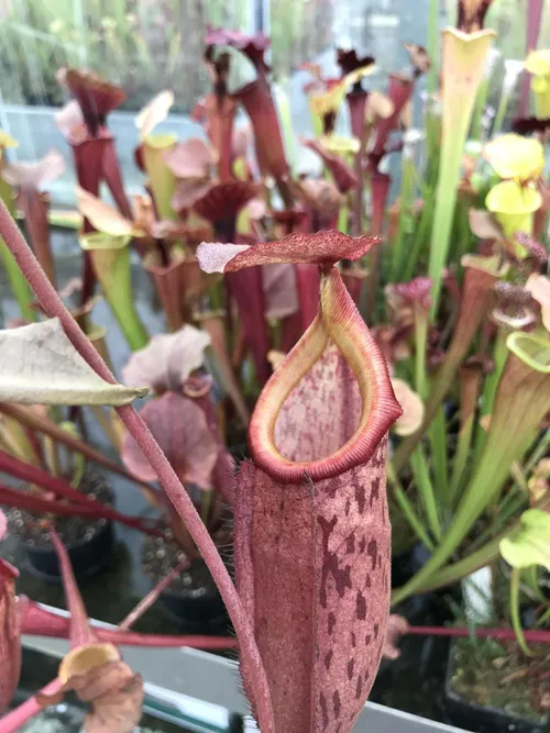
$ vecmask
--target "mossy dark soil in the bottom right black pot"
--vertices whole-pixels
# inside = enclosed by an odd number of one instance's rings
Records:
[[[451,645],[451,688],[469,702],[496,708],[535,723],[550,712],[548,646],[532,645],[527,657],[516,642],[461,638]]]

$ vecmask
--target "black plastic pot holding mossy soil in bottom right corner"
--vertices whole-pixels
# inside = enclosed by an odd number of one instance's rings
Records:
[[[534,721],[510,715],[504,710],[472,702],[452,689],[454,663],[452,644],[449,646],[449,660],[446,675],[446,712],[448,722],[458,728],[476,733],[544,733],[549,731],[549,721],[535,723]]]

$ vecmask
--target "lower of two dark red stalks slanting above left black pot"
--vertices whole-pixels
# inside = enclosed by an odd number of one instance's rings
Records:
[[[105,507],[103,504],[99,504],[99,509],[95,509],[94,507],[85,507],[84,504],[70,504],[25,493],[23,491],[18,491],[18,489],[4,486],[3,484],[0,484],[0,502],[6,503],[9,507],[16,507],[18,509],[24,509],[26,511],[36,513],[55,514],[58,517],[89,517],[90,519],[110,519],[114,522],[125,524],[132,530],[139,530],[140,532],[151,534],[155,537],[163,536],[163,532],[161,530],[145,526],[139,519],[119,514],[119,512],[116,510],[110,509],[109,507]]]

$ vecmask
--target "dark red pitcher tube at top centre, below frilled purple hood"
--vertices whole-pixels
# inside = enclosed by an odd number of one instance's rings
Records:
[[[264,176],[282,179],[288,174],[285,146],[278,124],[277,111],[263,77],[240,89],[235,99],[246,110],[254,129],[254,144],[260,169]]]

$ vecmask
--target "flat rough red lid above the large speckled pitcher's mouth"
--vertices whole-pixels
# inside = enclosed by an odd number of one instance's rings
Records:
[[[361,259],[376,244],[380,244],[377,237],[351,237],[336,230],[316,234],[294,232],[279,242],[262,242],[240,252],[226,265],[226,273],[270,263],[331,265],[340,259]]]

